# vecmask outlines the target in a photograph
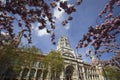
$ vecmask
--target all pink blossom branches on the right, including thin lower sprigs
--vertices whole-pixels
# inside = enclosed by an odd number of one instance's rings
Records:
[[[120,14],[115,13],[118,8],[120,8],[120,0],[109,0],[99,14],[100,20],[103,22],[90,26],[76,48],[93,46],[97,57],[100,57],[104,52],[119,53]],[[114,62],[115,59],[107,63],[112,63],[112,61]]]

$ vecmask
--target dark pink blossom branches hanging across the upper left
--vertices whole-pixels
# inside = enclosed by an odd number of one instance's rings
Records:
[[[10,34],[12,39],[16,37],[14,29],[25,29],[28,31],[24,34],[24,37],[31,43],[31,30],[32,24],[40,23],[37,26],[39,30],[47,28],[47,22],[51,24],[48,26],[46,32],[51,34],[51,41],[53,44],[55,33],[55,21],[56,18],[53,15],[53,9],[57,4],[60,4],[58,11],[64,10],[69,16],[68,19],[62,22],[66,25],[68,21],[72,20],[70,16],[73,12],[76,12],[76,6],[80,5],[81,0],[74,1],[74,5],[68,6],[70,3],[60,0],[2,0],[0,1],[0,32],[5,31]]]

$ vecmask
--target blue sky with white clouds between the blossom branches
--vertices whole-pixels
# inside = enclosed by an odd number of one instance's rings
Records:
[[[58,12],[56,9],[54,9],[54,16],[57,17],[55,41],[57,42],[61,35],[65,35],[68,37],[71,47],[75,50],[78,41],[82,39],[82,36],[85,33],[87,33],[88,27],[90,25],[95,25],[96,21],[100,22],[98,14],[104,8],[105,3],[107,2],[108,0],[83,0],[81,5],[77,7],[77,12],[72,14],[74,19],[66,26],[61,25],[61,21],[66,18],[64,11]],[[39,24],[34,24],[33,26],[37,25]],[[41,49],[42,52],[48,53],[50,50],[56,49],[56,46],[52,45],[50,41],[50,35],[46,33],[45,29],[39,31],[34,28],[32,33],[32,45],[35,45],[37,48]],[[78,53],[81,54],[84,54],[85,52],[86,49],[78,50]]]

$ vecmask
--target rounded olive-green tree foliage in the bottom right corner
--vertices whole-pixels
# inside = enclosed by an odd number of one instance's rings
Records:
[[[104,68],[104,71],[105,71],[105,73],[103,72],[103,76],[107,77],[109,80],[119,80],[120,79],[120,71],[117,71],[115,67],[106,66]]]

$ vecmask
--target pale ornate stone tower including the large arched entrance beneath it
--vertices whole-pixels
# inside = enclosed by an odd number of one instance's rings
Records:
[[[64,70],[60,80],[79,80],[78,63],[82,61],[77,59],[74,50],[71,48],[69,40],[62,35],[58,40],[57,50],[60,51],[64,59]]]

